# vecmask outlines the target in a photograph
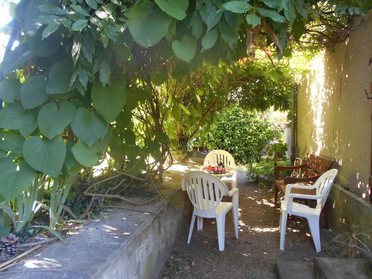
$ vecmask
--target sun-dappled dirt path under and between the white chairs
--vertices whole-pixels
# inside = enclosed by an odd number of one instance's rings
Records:
[[[337,255],[333,231],[320,232],[317,253],[306,219],[291,216],[285,251],[279,249],[279,209],[273,192],[250,185],[245,172],[238,174],[239,239],[235,238],[231,211],[226,215],[225,250],[218,250],[215,219],[204,219],[203,230],[193,228],[187,244],[187,224],[159,278],[276,278],[275,260],[312,260]],[[196,223],[196,222],[195,222]]]

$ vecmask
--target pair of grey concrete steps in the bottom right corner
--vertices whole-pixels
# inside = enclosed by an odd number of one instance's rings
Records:
[[[369,279],[363,259],[321,258],[311,261],[275,261],[280,279]]]

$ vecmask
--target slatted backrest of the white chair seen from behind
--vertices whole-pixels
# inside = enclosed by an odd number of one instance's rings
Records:
[[[228,189],[224,182],[209,173],[190,171],[183,175],[181,180],[182,190],[187,190],[190,201],[196,208],[202,211],[213,211],[222,200],[222,196],[228,195]],[[207,213],[207,212],[206,212]]]

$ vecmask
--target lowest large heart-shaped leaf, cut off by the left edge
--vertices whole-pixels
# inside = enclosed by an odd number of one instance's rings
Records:
[[[11,158],[0,158],[0,169],[0,195],[7,201],[30,186],[36,173],[25,161],[21,161],[18,167]]]

